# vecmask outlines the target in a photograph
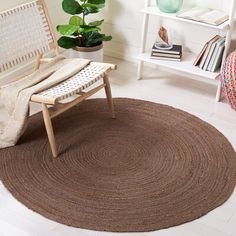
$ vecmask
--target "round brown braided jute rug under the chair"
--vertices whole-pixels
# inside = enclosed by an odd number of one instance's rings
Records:
[[[215,128],[169,106],[89,100],[54,120],[52,160],[41,114],[16,147],[0,151],[0,179],[13,196],[62,224],[152,231],[197,219],[236,184],[236,154]]]

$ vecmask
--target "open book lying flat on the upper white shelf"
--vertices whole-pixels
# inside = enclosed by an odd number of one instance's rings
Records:
[[[221,10],[214,10],[204,7],[193,7],[183,11],[177,17],[194,20],[210,25],[218,26],[229,19],[229,15]]]

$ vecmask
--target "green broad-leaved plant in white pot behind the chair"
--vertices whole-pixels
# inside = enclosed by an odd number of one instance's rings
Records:
[[[88,22],[86,17],[104,7],[105,0],[63,0],[63,10],[72,16],[68,24],[57,26],[62,35],[58,45],[73,49],[72,57],[103,61],[103,42],[110,41],[112,37],[101,33],[104,20]]]

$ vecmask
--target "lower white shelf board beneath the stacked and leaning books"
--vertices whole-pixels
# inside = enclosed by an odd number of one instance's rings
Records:
[[[200,77],[207,78],[207,79],[216,80],[220,76],[219,71],[218,72],[209,72],[209,71],[204,71],[197,66],[193,66],[194,60],[197,57],[193,53],[184,52],[181,62],[151,59],[150,54],[151,53],[140,54],[137,57],[137,59],[140,61],[153,63],[158,66],[166,67],[169,69],[174,69],[176,71],[189,73],[189,74],[200,76]]]

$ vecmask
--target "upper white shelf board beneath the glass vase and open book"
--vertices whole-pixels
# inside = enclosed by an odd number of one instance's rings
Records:
[[[218,29],[218,30],[224,30],[227,29],[229,27],[229,21],[224,22],[221,25],[210,25],[210,24],[206,24],[206,23],[202,23],[202,22],[198,22],[198,21],[194,21],[194,20],[188,20],[188,19],[184,19],[181,17],[177,17],[176,13],[164,13],[161,12],[158,7],[154,6],[154,7],[146,7],[144,8],[141,12],[149,14],[149,15],[155,15],[155,16],[160,16],[160,17],[164,17],[167,19],[172,19],[175,21],[180,21],[180,22],[186,22],[186,23],[191,23],[191,24],[195,24],[195,25],[200,25],[200,26],[205,26],[208,28],[212,28],[212,29]]]

